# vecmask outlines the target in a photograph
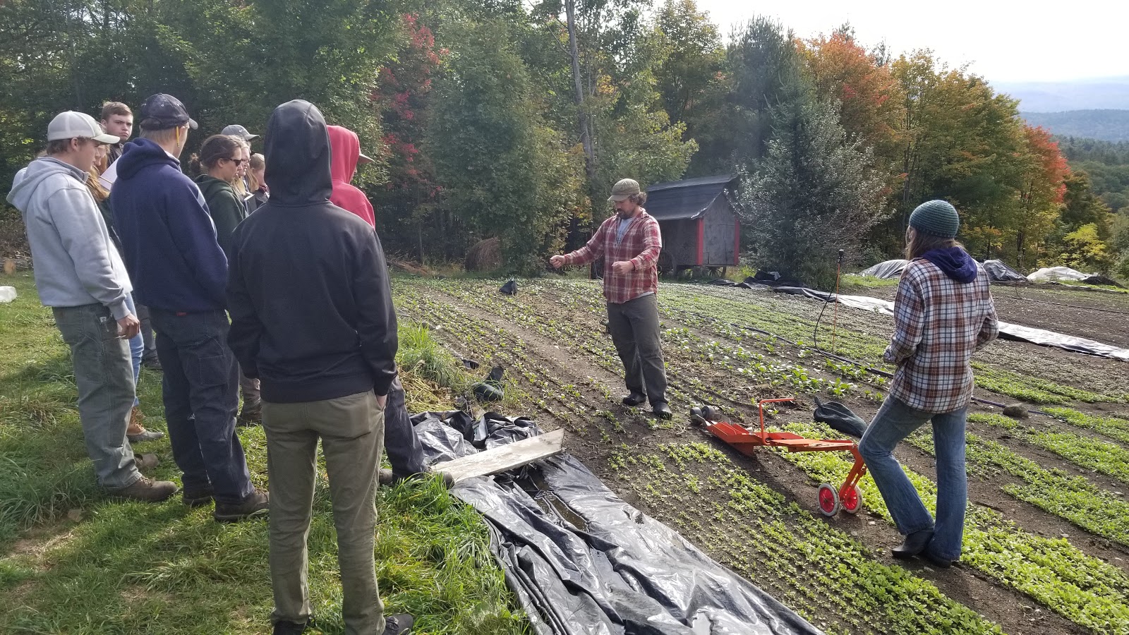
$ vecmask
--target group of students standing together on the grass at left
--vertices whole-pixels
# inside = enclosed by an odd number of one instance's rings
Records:
[[[306,534],[321,442],[345,630],[408,633],[413,618],[385,617],[378,595],[374,495],[377,484],[429,470],[397,377],[375,215],[349,183],[367,158],[357,134],[288,102],[270,119],[265,157],[251,151],[256,136],[231,125],[203,141],[191,179],[180,157],[198,124],[184,104],[152,95],[139,124],[128,141],[132,112],[120,103],[106,104],[100,123],[60,113],[8,195],[27,227],[41,301],[71,349],[99,484],[154,503],[181,492],[187,506],[215,503],[219,522],[269,515],[273,632],[301,633],[313,619]],[[163,436],[131,434],[140,306],[155,331],[181,488],[142,476],[148,466],[133,454]],[[270,494],[252,484],[236,435],[237,421],[259,419]],[[391,471],[379,469],[385,446]]]

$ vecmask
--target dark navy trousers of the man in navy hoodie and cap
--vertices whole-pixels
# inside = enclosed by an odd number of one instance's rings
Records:
[[[186,490],[215,492],[219,503],[251,496],[247,460],[235,435],[239,369],[227,347],[227,313],[177,314],[149,307],[173,459]]]

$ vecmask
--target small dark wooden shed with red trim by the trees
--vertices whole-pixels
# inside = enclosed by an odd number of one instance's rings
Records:
[[[702,176],[647,188],[647,214],[658,220],[663,252],[658,268],[677,273],[691,267],[735,267],[741,221],[733,203],[735,176]]]

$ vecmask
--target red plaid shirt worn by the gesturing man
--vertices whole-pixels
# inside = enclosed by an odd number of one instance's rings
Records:
[[[587,264],[597,258],[604,259],[604,297],[612,304],[623,304],[647,293],[658,292],[658,252],[663,249],[663,235],[658,221],[639,209],[631,219],[623,240],[615,241],[615,229],[620,219],[613,215],[596,229],[588,244],[564,256],[564,264]],[[612,263],[627,260],[632,270],[625,275],[612,271]]]

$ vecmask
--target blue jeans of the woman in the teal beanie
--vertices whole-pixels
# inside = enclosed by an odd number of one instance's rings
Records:
[[[961,557],[964,537],[964,510],[969,502],[968,475],[964,467],[964,420],[968,408],[933,414],[916,410],[887,398],[866,434],[858,451],[882,493],[898,531],[910,534],[933,529],[927,550],[943,559]],[[894,446],[933,419],[933,444],[937,462],[937,521],[921,503],[913,484],[894,459]]]

